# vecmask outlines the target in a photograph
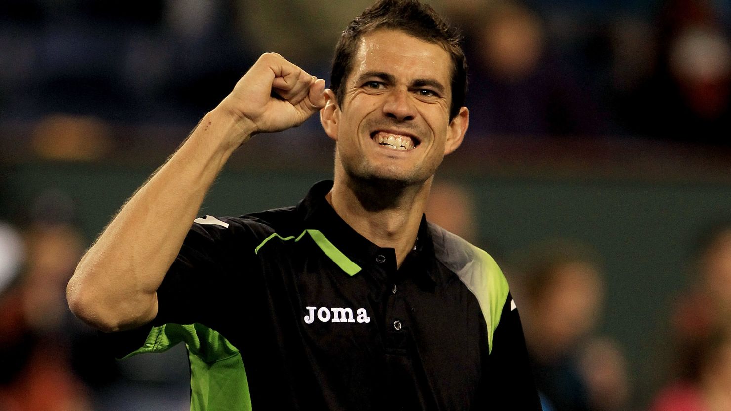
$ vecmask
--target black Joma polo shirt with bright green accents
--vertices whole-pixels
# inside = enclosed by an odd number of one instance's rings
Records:
[[[118,356],[185,342],[192,410],[540,410],[518,311],[484,251],[423,218],[396,268],[313,186],[197,218]]]

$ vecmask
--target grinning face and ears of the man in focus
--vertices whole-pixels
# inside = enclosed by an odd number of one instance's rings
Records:
[[[450,121],[452,60],[436,44],[404,31],[361,37],[344,82],[341,107],[332,91],[320,120],[337,142],[336,176],[428,180],[461,143],[469,112]]]

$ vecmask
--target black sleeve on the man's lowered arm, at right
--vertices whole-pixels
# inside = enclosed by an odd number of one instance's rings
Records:
[[[517,307],[507,295],[486,364],[482,410],[542,410]]]

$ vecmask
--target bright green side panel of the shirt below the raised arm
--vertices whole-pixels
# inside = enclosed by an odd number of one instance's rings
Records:
[[[239,351],[201,324],[153,327],[145,344],[124,358],[162,353],[184,342],[190,360],[191,411],[251,411],[249,381]]]

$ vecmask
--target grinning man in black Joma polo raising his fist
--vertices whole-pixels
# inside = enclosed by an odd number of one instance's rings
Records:
[[[413,0],[350,23],[332,90],[262,55],[81,259],[69,306],[132,329],[109,335],[121,356],[186,342],[194,410],[539,410],[503,274],[423,216],[465,88],[455,34]],[[334,182],[190,228],[238,146],[318,110]]]

